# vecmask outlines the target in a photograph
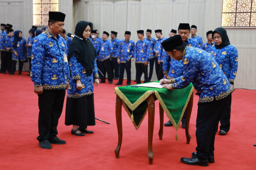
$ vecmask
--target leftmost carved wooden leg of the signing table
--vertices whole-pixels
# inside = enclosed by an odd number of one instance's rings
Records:
[[[116,125],[118,131],[118,144],[115,149],[116,158],[119,158],[119,152],[122,145],[122,99],[116,95]]]

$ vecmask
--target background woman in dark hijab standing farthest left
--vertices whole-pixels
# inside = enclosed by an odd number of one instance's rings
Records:
[[[22,37],[22,32],[17,30],[14,32],[14,40],[12,47],[12,71],[11,75],[16,70],[16,63],[19,61],[19,75],[21,75],[23,62],[26,62],[26,40]]]

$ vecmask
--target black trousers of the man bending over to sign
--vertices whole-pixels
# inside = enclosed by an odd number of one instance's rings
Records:
[[[231,96],[221,100],[198,104],[198,114],[196,118],[196,141],[197,157],[207,160],[208,156],[214,156],[215,134],[218,130],[218,122],[221,112]]]

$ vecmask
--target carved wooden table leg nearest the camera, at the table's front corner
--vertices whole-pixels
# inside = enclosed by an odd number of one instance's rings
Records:
[[[154,95],[148,97],[148,162],[153,164],[154,153],[152,149],[154,131]]]

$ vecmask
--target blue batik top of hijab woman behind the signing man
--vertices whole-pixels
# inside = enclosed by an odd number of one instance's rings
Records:
[[[236,47],[227,45],[226,47],[216,49],[215,46],[213,46],[209,49],[209,53],[214,57],[228,81],[234,84],[238,68],[238,53]]]

